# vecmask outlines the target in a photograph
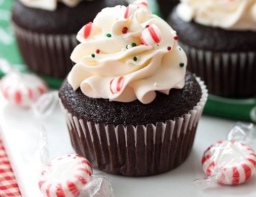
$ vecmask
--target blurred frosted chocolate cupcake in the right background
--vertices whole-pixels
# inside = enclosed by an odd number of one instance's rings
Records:
[[[168,22],[180,37],[188,69],[209,93],[256,95],[255,13],[255,0],[182,0],[171,13]]]

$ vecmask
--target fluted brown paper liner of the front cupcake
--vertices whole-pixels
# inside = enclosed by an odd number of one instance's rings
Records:
[[[169,171],[189,155],[208,94],[197,78],[202,97],[188,113],[156,126],[95,124],[78,119],[62,104],[73,148],[93,167],[125,176],[149,176]]]

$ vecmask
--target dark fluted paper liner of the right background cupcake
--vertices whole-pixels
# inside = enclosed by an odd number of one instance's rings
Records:
[[[205,81],[210,94],[222,97],[256,95],[256,51],[214,52],[179,44],[188,58],[187,69]]]

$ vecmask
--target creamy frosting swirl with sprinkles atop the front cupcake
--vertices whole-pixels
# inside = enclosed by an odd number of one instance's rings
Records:
[[[133,12],[128,18],[124,18],[128,13],[125,6],[105,8],[90,23],[89,31],[83,27],[77,34],[81,43],[71,55],[76,65],[68,76],[74,90],[80,87],[91,98],[149,103],[155,91],[169,94],[171,88],[183,88],[187,58],[178,46],[176,32],[141,5],[129,10]],[[141,44],[147,25],[158,28],[156,34],[161,33],[159,46]],[[122,33],[124,27],[127,33]],[[148,37],[146,40],[150,41]],[[132,43],[137,46],[132,47]]]

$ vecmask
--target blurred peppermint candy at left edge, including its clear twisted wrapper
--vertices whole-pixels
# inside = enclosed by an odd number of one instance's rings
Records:
[[[48,92],[47,84],[33,73],[15,70],[5,59],[0,59],[0,92],[9,103],[31,108],[39,117],[50,115],[57,106],[58,91]]]

